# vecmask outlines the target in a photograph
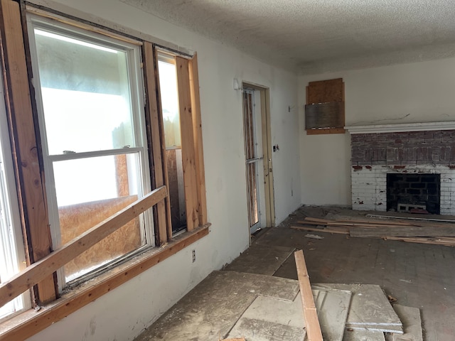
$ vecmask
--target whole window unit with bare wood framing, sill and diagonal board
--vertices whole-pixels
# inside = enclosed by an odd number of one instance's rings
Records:
[[[6,178],[7,185],[16,180],[26,262],[34,265],[0,285],[0,305],[33,287],[33,303],[52,308],[9,321],[11,329],[1,330],[0,338],[11,340],[68,316],[204,237],[210,227],[196,55],[164,53],[161,76],[174,81],[166,90],[163,80],[160,92],[153,43],[38,7],[0,3],[6,114],[14,136],[15,176],[10,180],[7,171]],[[172,99],[164,102],[171,104],[161,105],[159,94],[168,91]],[[175,113],[176,102],[179,119],[161,110],[172,107]],[[164,124],[168,147],[181,148],[189,232],[181,235],[171,225]],[[8,132],[6,124],[0,127]],[[8,136],[3,130],[2,138]],[[99,281],[85,281],[97,275]],[[55,301],[57,284],[61,297]],[[73,284],[80,290],[70,290]]]

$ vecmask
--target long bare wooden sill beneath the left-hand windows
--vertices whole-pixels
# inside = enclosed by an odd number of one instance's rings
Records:
[[[149,249],[97,278],[81,283],[77,288],[41,307],[40,310],[27,310],[1,323],[0,340],[26,340],[198,241],[208,234],[209,227],[210,223],[198,227],[192,232],[183,233],[163,247]]]

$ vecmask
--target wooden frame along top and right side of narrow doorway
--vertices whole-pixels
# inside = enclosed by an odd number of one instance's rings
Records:
[[[272,166],[272,131],[270,129],[270,91],[268,87],[251,82],[242,82],[242,88],[259,92],[261,103],[261,136],[264,153],[264,201],[266,227],[275,226],[274,180]],[[243,105],[243,99],[242,99]],[[259,127],[258,127],[259,128]],[[262,180],[262,179],[259,179]]]

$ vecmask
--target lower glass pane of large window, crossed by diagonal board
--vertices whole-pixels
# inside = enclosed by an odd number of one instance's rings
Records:
[[[61,242],[65,244],[138,199],[139,153],[53,163]],[[145,244],[139,217],[65,265],[66,281]]]

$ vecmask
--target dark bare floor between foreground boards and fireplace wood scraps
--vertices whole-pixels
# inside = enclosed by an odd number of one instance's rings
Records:
[[[349,238],[343,234],[323,232],[309,232],[323,237],[310,239],[305,237],[307,232],[289,228],[291,224],[306,216],[326,217],[327,214],[339,213],[365,215],[366,212],[337,207],[301,207],[289,215],[279,227],[264,229],[253,237],[252,247],[227,266],[225,271],[262,276],[273,273],[275,277],[296,279],[294,257],[289,256],[286,259],[285,255],[291,254],[293,249],[303,249],[311,283],[378,284],[387,294],[397,298],[397,303],[421,310],[424,340],[455,340],[455,247]],[[271,265],[272,262],[274,264]],[[235,287],[235,283],[232,282],[231,285]],[[204,282],[199,286],[203,287]],[[191,310],[194,295],[188,293],[187,296],[181,300],[188,301],[186,308],[177,303],[137,340],[166,340],[168,337],[163,336],[167,334],[167,328],[169,332],[178,330],[180,333],[183,328],[190,328],[188,334],[191,335],[191,329],[195,329],[191,321],[185,326],[176,325],[176,320],[171,319],[166,325],[166,315],[185,309]],[[205,304],[208,311],[213,309],[210,297],[205,297],[203,302],[199,303]],[[198,310],[204,308],[199,306]],[[192,312],[189,313],[191,315]],[[238,317],[240,318],[240,315]],[[234,319],[232,313],[232,320]],[[223,328],[227,330],[228,325]],[[161,335],[157,335],[158,331]],[[207,340],[218,340],[213,337],[215,334]],[[172,340],[203,339],[196,337]]]

